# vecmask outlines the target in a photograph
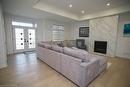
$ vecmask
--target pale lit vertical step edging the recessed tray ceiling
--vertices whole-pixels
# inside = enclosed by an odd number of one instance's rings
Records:
[[[113,9],[109,9],[106,11],[101,11],[98,13],[93,13],[93,14],[87,14],[84,16],[78,16],[76,14],[73,14],[71,12],[67,12],[64,9],[61,8],[57,8],[54,6],[50,6],[46,3],[36,3],[33,8],[41,10],[41,11],[45,11],[48,13],[52,13],[52,14],[56,14],[59,16],[63,16],[66,18],[70,18],[76,21],[83,21],[83,20],[89,20],[89,19],[94,19],[94,18],[99,18],[99,17],[105,17],[105,16],[111,16],[111,15],[117,15],[120,13],[124,13],[124,12],[128,12],[130,11],[130,4],[126,5],[126,6],[121,6],[121,7],[117,7],[117,8],[113,8]]]

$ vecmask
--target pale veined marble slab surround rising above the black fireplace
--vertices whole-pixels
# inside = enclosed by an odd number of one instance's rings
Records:
[[[116,53],[118,16],[92,19],[89,22],[89,52],[94,52],[94,41],[107,41],[107,56],[114,57]]]

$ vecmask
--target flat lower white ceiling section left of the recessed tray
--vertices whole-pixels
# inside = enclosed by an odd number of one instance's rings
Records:
[[[49,12],[40,11],[33,8],[38,0],[3,0],[3,10],[5,13],[16,16],[23,16],[34,19],[51,19],[63,22],[73,22],[75,20],[62,17]]]

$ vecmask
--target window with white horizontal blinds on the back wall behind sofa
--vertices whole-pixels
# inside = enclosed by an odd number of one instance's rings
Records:
[[[63,41],[64,40],[64,27],[63,26],[53,25],[52,40],[53,41]]]

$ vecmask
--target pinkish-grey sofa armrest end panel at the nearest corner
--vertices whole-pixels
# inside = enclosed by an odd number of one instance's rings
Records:
[[[80,87],[86,87],[98,75],[99,60],[94,59],[89,62],[82,62],[80,66]]]

